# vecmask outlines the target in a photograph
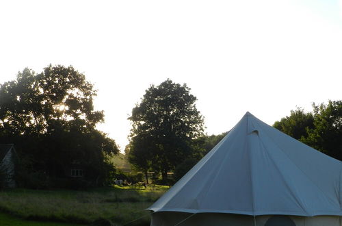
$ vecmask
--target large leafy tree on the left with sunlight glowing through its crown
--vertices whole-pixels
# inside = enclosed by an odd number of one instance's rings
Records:
[[[2,142],[14,142],[30,159],[32,170],[57,177],[65,164],[80,162],[88,176],[105,174],[109,155],[118,147],[96,124],[92,84],[72,66],[48,66],[36,74],[28,68],[0,86]]]

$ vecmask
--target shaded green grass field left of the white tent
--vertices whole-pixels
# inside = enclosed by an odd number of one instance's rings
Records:
[[[10,214],[17,219],[73,225],[149,225],[150,217],[144,209],[167,189],[166,186],[150,186],[146,189],[116,186],[87,191],[3,190],[0,192],[0,212],[6,214],[0,215],[0,221],[2,223],[3,218],[10,218]],[[142,219],[134,221],[139,218]],[[26,225],[29,223],[27,221]]]

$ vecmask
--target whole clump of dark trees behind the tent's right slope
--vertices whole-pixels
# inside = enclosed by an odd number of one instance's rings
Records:
[[[332,158],[342,160],[342,101],[328,101],[316,105],[313,112],[302,108],[274,123],[285,134],[304,142]]]

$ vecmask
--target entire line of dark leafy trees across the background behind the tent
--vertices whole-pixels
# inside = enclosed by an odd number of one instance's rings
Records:
[[[25,68],[14,81],[0,85],[0,143],[15,144],[19,186],[103,186],[118,176],[111,162],[119,152],[116,142],[96,129],[104,113],[94,110],[95,96],[92,84],[72,66],[50,65],[42,73]],[[147,182],[148,171],[153,171],[161,173],[157,182],[174,183],[226,136],[227,132],[204,133],[196,100],[186,84],[167,79],[151,85],[133,108],[128,118],[130,142],[124,151]],[[274,123],[339,160],[341,126],[341,101],[313,104],[313,112],[298,108]],[[174,172],[174,180],[168,179],[168,172]]]

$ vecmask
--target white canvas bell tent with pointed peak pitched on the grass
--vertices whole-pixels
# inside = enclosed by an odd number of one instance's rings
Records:
[[[247,112],[148,210],[151,225],[342,225],[342,164]]]

